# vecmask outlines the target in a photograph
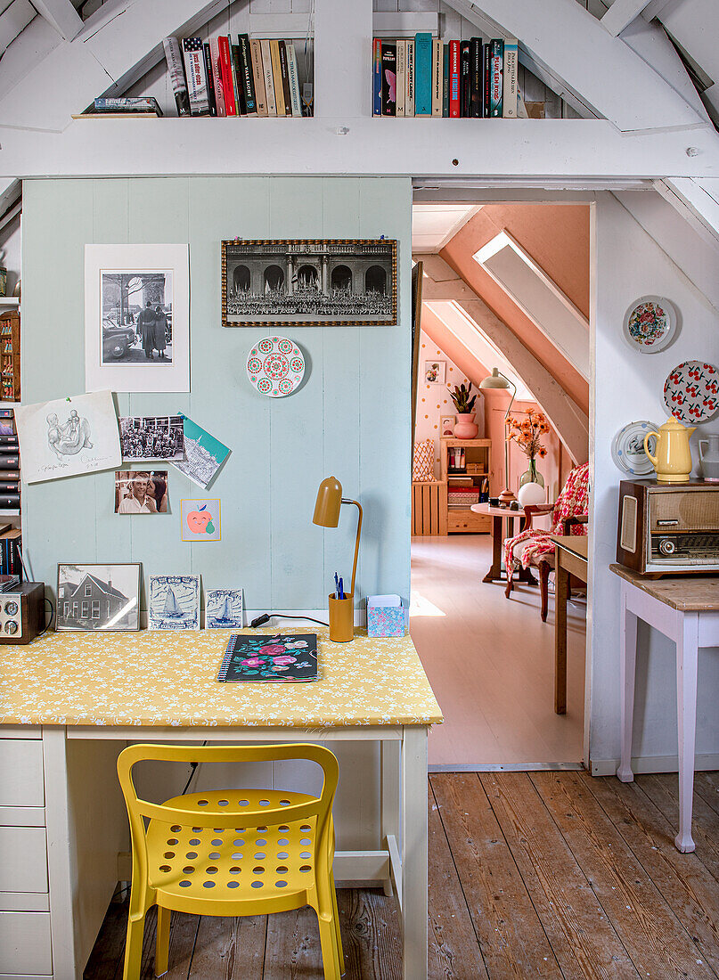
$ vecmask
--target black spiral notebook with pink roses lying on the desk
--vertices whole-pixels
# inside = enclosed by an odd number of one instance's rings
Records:
[[[218,681],[270,680],[291,683],[317,679],[316,633],[292,636],[233,634]]]

